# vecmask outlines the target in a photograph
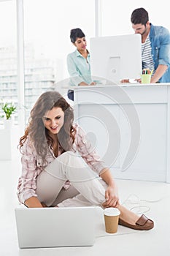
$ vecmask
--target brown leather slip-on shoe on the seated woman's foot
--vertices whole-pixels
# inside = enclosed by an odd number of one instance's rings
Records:
[[[136,221],[136,225],[124,222],[123,219],[119,218],[119,225],[133,228],[134,230],[151,230],[154,227],[154,222],[148,219],[144,214]]]

